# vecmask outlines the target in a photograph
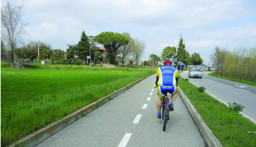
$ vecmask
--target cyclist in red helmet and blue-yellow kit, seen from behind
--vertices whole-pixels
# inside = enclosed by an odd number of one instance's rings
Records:
[[[156,72],[156,83],[154,88],[157,88],[158,99],[156,100],[157,118],[161,118],[162,100],[165,92],[171,94],[170,111],[173,111],[173,103],[177,98],[179,73],[176,67],[172,67],[172,61],[169,59],[164,60],[164,66],[158,68]]]

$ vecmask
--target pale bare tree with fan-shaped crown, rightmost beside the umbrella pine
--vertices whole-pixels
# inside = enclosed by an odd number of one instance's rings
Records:
[[[132,47],[132,57],[133,57],[133,60],[135,61],[136,67],[140,62],[140,58],[144,53],[145,48],[146,48],[146,43],[144,41],[139,39],[134,40],[134,45]]]

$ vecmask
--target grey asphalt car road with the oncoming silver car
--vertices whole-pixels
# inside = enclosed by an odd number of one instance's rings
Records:
[[[211,77],[208,73],[202,72],[202,79],[190,78],[189,81],[196,86],[205,87],[208,93],[226,104],[242,104],[245,106],[243,113],[256,122],[256,87]],[[181,76],[188,78],[188,72],[181,73]]]

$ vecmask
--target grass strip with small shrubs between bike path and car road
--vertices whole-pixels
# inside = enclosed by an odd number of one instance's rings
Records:
[[[256,133],[253,133],[256,132],[256,124],[210,95],[198,92],[196,86],[183,78],[180,78],[179,86],[224,147],[256,146]]]

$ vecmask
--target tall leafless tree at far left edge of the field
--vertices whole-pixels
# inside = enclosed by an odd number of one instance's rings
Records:
[[[11,67],[18,69],[24,67],[18,60],[15,48],[17,43],[21,41],[20,36],[26,33],[25,27],[28,25],[22,19],[24,14],[21,9],[22,6],[13,6],[10,3],[1,9],[1,38],[11,48]]]

